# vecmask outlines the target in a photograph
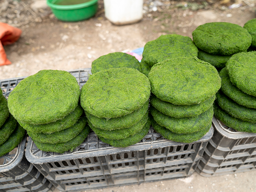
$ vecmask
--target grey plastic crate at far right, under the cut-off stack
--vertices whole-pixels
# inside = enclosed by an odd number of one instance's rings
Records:
[[[213,137],[196,168],[200,175],[209,177],[256,168],[256,133],[237,132],[213,118]]]

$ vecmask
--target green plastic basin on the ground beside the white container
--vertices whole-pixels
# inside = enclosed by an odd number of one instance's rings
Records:
[[[57,19],[62,21],[80,21],[89,19],[98,9],[98,0],[74,5],[57,5],[57,0],[47,0],[47,5],[52,9]]]

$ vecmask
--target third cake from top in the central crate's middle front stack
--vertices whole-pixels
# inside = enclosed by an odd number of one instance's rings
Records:
[[[103,129],[94,127],[89,121],[88,121],[88,124],[91,127],[92,131],[94,131],[97,136],[103,137],[105,139],[110,139],[110,140],[119,140],[119,139],[125,139],[126,137],[129,137],[131,135],[134,135],[140,132],[140,130],[142,130],[144,125],[147,123],[147,121],[148,121],[148,112],[142,117],[142,119],[138,123],[128,128],[108,131],[108,130],[103,130]]]

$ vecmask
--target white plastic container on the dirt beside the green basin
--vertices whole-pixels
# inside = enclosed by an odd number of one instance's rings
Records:
[[[104,0],[105,17],[115,25],[136,23],[142,19],[143,0]]]

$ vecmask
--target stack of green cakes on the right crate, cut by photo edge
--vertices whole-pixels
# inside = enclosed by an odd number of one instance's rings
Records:
[[[214,116],[237,131],[256,132],[256,52],[237,53],[220,71]]]

